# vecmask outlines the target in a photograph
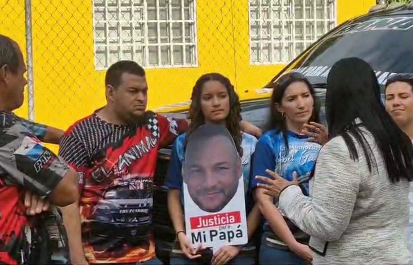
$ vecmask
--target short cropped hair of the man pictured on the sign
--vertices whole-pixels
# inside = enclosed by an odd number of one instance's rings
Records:
[[[198,127],[189,135],[185,148],[185,156],[192,157],[199,154],[208,145],[211,145],[210,139],[217,136],[226,138],[227,142],[231,145],[231,147],[233,147],[231,148],[231,152],[233,153],[232,155],[234,158],[237,158],[238,153],[236,151],[235,143],[227,127],[212,123]],[[220,147],[216,146],[216,148]]]

